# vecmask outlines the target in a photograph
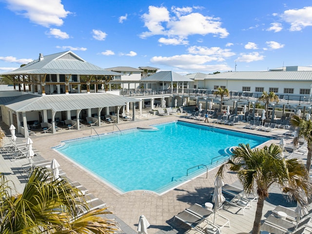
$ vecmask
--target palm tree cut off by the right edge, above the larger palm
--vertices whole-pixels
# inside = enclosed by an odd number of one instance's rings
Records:
[[[297,115],[292,116],[291,125],[297,127],[297,134],[293,138],[295,145],[298,144],[300,137],[303,137],[307,141],[308,155],[307,155],[307,170],[310,172],[311,159],[312,159],[312,121],[306,120]]]

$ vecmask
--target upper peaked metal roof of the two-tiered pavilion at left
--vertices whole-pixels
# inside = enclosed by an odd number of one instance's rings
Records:
[[[26,74],[72,74],[72,75],[106,75],[120,76],[120,73],[112,72],[93,65],[79,58],[71,51],[58,54],[41,56],[23,67],[1,75],[26,75]]]

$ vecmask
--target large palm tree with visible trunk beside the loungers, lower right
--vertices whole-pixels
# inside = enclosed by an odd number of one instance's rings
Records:
[[[237,173],[239,181],[247,194],[256,187],[258,201],[254,218],[253,234],[260,233],[262,210],[265,198],[269,197],[269,188],[276,183],[283,193],[293,195],[302,205],[307,206],[302,192],[312,194],[312,185],[307,180],[308,171],[297,158],[286,159],[280,156],[281,148],[271,144],[263,148],[251,149],[239,144],[233,156],[219,168],[217,175],[222,178],[225,168]]]

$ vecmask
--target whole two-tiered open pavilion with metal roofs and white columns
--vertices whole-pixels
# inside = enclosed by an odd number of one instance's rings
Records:
[[[76,129],[81,120],[91,119],[92,124],[99,125],[101,117],[108,115],[118,122],[120,110],[126,106],[129,111],[129,103],[135,105],[138,101],[120,96],[119,92],[106,92],[108,86],[122,82],[123,74],[88,63],[71,51],[39,54],[39,59],[1,75],[14,83],[14,91],[0,93],[2,120],[7,125],[13,124],[25,137],[32,127],[43,129],[42,124],[55,133],[58,121],[67,121],[68,126],[75,125]],[[80,94],[82,86],[86,87],[86,94]],[[91,87],[96,93],[90,92]]]

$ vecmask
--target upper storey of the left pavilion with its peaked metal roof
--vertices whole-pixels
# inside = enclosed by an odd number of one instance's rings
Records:
[[[90,87],[97,92],[102,84],[107,90],[109,81],[121,79],[120,73],[93,65],[71,51],[47,56],[40,53],[38,59],[1,76],[11,79],[19,91],[26,91],[28,85],[30,93],[42,95],[68,94],[73,90],[80,93],[82,88],[89,93]]]

